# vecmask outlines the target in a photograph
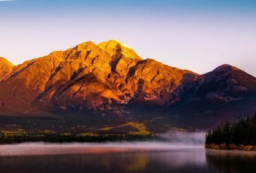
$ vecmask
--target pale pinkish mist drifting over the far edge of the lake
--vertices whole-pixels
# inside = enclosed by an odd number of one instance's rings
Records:
[[[108,141],[103,143],[21,143],[2,145],[0,156],[107,153],[138,150],[176,150],[204,148],[204,132],[171,130],[150,141]]]

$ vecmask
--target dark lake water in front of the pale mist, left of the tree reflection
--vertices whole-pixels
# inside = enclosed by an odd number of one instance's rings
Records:
[[[160,151],[160,153],[138,151],[136,153],[5,156],[0,158],[0,171],[10,173],[198,172],[203,170],[203,164],[193,161],[194,154],[186,151],[174,155],[170,151]],[[186,159],[186,156],[191,160]]]

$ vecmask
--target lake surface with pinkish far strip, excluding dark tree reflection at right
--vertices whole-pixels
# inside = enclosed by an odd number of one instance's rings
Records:
[[[204,149],[1,146],[0,172],[198,172]]]

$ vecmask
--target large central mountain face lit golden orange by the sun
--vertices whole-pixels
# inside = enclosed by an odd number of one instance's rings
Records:
[[[183,75],[193,78],[197,74],[153,59],[143,60],[132,49],[111,40],[98,45],[86,42],[26,61],[14,67],[1,86],[15,93],[4,97],[7,102],[14,97],[11,104],[19,105],[17,112],[22,103],[16,99],[21,96],[27,109],[106,110],[140,101],[162,105],[179,95],[176,89]]]

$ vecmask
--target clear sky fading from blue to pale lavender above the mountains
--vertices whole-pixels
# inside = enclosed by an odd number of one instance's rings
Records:
[[[0,1],[0,56],[15,65],[107,40],[198,74],[231,64],[256,76],[256,1]]]

